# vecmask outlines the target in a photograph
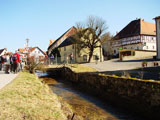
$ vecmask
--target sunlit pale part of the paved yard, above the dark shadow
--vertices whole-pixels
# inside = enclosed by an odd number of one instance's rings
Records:
[[[118,59],[112,59],[104,62],[96,63],[86,63],[84,65],[93,67],[97,69],[99,72],[104,71],[119,71],[119,70],[132,70],[136,68],[140,68],[142,66],[142,61],[144,60],[132,60],[132,61],[119,61]],[[153,66],[153,60],[147,59],[148,67]],[[160,62],[158,61],[160,64]]]

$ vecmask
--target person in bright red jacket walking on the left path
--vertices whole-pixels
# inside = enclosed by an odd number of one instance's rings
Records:
[[[13,60],[13,72],[17,73],[18,72],[18,65],[19,65],[19,62],[20,62],[20,56],[17,53],[17,51],[16,51],[15,54],[13,54],[12,60]]]

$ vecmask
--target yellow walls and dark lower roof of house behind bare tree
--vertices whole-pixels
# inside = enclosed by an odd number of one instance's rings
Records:
[[[89,50],[87,48],[84,48],[79,52],[77,50],[77,45],[69,43],[67,39],[59,46],[58,49],[60,51],[61,61],[71,63],[71,55],[72,55],[73,62],[76,62],[76,63],[88,62]],[[96,56],[99,57],[99,60],[98,60],[99,62],[103,61],[102,48],[100,48],[100,47],[95,48],[90,62],[95,62]]]

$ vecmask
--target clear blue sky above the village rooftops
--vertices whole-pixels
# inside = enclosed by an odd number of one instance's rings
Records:
[[[14,52],[29,46],[46,51],[49,40],[57,39],[76,22],[98,16],[113,35],[130,21],[143,18],[154,23],[160,15],[159,0],[0,0],[0,49]]]

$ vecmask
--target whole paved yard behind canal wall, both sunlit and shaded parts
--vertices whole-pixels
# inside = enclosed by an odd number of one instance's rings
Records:
[[[132,60],[132,61],[118,61],[118,59],[112,59],[104,62],[86,63],[84,65],[93,67],[99,72],[104,74],[111,74],[117,76],[130,76],[134,78],[140,78],[145,80],[160,80],[160,66],[153,67],[153,59],[146,59],[147,67],[142,68],[142,62],[144,60]],[[157,61],[160,65],[160,61]],[[138,69],[140,68],[140,69]]]

